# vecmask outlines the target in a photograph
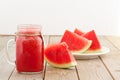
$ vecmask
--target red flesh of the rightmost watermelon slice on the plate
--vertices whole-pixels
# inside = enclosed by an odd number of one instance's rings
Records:
[[[100,52],[101,51],[101,44],[94,30],[89,31],[83,34],[82,36],[89,40],[92,40],[92,45],[87,50],[88,52]]]

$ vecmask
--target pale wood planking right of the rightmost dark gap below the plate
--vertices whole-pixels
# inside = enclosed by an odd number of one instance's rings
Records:
[[[104,40],[102,43],[110,49],[110,52],[101,56],[101,60],[112,78],[114,80],[120,80],[120,37],[105,36],[102,40]]]

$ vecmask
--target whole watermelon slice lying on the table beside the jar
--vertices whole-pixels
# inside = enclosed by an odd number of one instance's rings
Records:
[[[45,60],[54,67],[69,68],[77,65],[65,42],[52,44],[45,49]]]

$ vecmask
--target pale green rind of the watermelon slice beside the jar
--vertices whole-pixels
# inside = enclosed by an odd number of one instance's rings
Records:
[[[74,67],[77,65],[76,61],[71,61],[70,63],[65,63],[65,64],[57,64],[57,63],[53,63],[52,61],[47,59],[46,56],[44,56],[44,58],[51,66],[57,67],[57,68],[69,68],[69,67]]]

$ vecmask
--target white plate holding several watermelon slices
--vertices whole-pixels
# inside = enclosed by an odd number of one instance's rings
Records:
[[[102,46],[102,51],[97,53],[77,53],[73,52],[75,59],[93,59],[100,55],[107,54],[110,51],[109,48]]]

